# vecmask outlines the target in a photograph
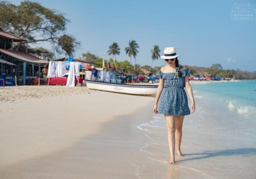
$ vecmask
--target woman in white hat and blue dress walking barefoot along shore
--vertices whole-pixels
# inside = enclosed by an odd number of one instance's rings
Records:
[[[161,58],[165,59],[167,65],[156,73],[156,75],[160,76],[160,82],[153,108],[155,114],[164,114],[166,119],[171,154],[171,159],[168,163],[172,165],[175,164],[175,136],[177,155],[183,156],[180,151],[182,124],[184,116],[190,114],[184,87],[186,87],[191,100],[191,113],[195,111],[195,101],[189,84],[189,69],[179,65],[178,56],[174,47],[166,47],[164,49],[164,55]],[[159,106],[157,109],[158,101]]]

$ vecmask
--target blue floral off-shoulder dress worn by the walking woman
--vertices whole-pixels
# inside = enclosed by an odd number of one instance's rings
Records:
[[[164,80],[163,91],[160,95],[158,104],[159,114],[169,115],[189,115],[188,98],[186,95],[185,76],[190,73],[189,69],[184,69],[181,77],[176,72],[163,73],[157,72],[155,75]]]

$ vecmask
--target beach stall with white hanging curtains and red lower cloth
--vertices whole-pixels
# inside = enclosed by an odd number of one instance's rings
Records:
[[[48,85],[66,85],[74,87],[76,84],[83,83],[79,78],[81,62],[77,61],[50,61],[47,73]]]

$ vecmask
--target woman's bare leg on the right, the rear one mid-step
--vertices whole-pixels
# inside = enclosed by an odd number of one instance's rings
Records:
[[[177,150],[178,156],[183,156],[180,151],[183,120],[184,120],[184,115],[175,116],[175,124],[176,124],[175,137],[176,137],[176,150]]]

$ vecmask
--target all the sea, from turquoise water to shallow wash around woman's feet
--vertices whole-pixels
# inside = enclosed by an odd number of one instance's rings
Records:
[[[176,166],[170,167],[184,177],[176,178],[256,178],[256,81],[191,86],[196,110],[184,118],[184,157],[176,157]],[[152,114],[137,128],[148,139],[140,150],[165,166],[169,149],[164,116]]]

